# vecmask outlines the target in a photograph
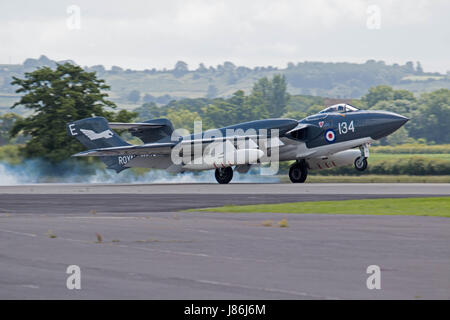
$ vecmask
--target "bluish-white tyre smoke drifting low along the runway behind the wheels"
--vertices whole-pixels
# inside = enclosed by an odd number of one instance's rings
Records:
[[[235,172],[233,182],[279,182],[276,177],[261,177],[258,169],[247,174]],[[0,185],[34,183],[216,183],[214,171],[170,174],[165,170],[138,173],[132,169],[121,173],[93,163],[85,164],[72,159],[58,165],[44,160],[26,160],[18,165],[0,163]]]

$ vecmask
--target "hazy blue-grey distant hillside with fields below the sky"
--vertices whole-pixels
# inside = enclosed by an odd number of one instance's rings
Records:
[[[66,60],[67,61],[67,60]],[[10,82],[13,76],[22,77],[41,66],[56,66],[45,56],[27,59],[23,64],[0,65],[0,113],[18,100]],[[73,63],[73,62],[72,62]],[[230,97],[237,90],[248,93],[253,84],[262,77],[284,74],[290,94],[322,96],[330,98],[360,98],[370,87],[385,84],[395,89],[407,89],[414,93],[450,88],[450,77],[439,73],[426,73],[420,63],[387,65],[383,61],[369,60],[365,63],[288,63],[284,69],[275,67],[235,66],[224,62],[216,67],[200,64],[195,70],[178,61],[171,70],[131,70],[102,65],[84,67],[95,71],[99,78],[111,86],[111,100],[121,108],[133,109],[142,103],[159,105],[181,98]],[[23,110],[17,110],[23,112]]]

